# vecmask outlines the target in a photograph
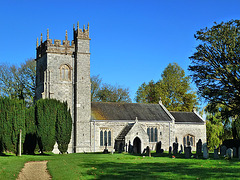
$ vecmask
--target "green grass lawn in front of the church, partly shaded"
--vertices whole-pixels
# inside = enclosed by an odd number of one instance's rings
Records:
[[[240,179],[238,159],[208,160],[129,154],[0,156],[0,179],[16,179],[27,161],[48,160],[53,179]]]

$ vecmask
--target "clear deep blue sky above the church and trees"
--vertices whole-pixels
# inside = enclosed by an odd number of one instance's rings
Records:
[[[189,75],[196,31],[240,18],[237,0],[0,0],[0,64],[36,58],[36,39],[69,40],[90,24],[91,75],[129,88],[158,81],[169,63]],[[194,84],[192,87],[195,88]]]

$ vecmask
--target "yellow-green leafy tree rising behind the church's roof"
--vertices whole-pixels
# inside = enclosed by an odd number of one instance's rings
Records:
[[[154,83],[143,83],[137,90],[139,103],[162,103],[170,111],[192,111],[197,106],[195,92],[191,91],[190,78],[177,64],[169,64],[161,75],[162,79]]]

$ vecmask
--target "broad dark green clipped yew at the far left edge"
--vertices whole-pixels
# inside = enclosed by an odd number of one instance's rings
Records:
[[[25,103],[22,100],[0,98],[0,151],[18,152],[19,134],[25,140]]]

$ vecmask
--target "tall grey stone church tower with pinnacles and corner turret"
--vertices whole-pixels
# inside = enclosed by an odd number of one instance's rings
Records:
[[[90,38],[87,28],[73,28],[73,41],[37,40],[36,98],[67,101],[73,118],[68,152],[91,151]]]

